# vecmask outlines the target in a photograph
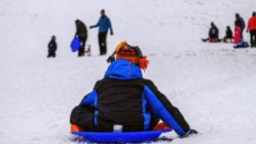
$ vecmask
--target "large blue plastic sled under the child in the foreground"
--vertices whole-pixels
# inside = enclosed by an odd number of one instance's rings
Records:
[[[86,140],[97,143],[142,142],[157,139],[162,133],[172,129],[145,132],[72,132],[83,136]]]

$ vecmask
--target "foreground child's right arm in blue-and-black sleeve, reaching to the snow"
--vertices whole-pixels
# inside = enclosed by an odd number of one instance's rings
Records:
[[[153,82],[145,81],[143,93],[153,113],[179,135],[187,135],[190,132],[190,127],[179,109],[174,107],[165,95],[158,91]]]

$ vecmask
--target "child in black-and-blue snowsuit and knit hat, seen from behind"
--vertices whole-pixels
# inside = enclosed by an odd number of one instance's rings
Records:
[[[124,41],[107,61],[104,78],[72,110],[71,131],[74,125],[87,132],[113,132],[114,125],[122,125],[123,132],[151,131],[162,119],[182,137],[197,133],[154,83],[142,78],[148,60],[138,46]]]

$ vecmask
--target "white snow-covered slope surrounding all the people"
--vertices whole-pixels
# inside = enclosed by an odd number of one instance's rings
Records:
[[[70,141],[69,115],[103,77],[106,59],[126,39],[140,46],[152,79],[201,134],[171,143],[256,143],[256,49],[202,43],[211,21],[225,35],[236,12],[247,23],[256,1],[143,0],[0,3],[0,143]],[[114,36],[99,57],[97,29],[89,30],[92,57],[77,58],[69,44],[76,19],[94,25],[106,10]],[[57,58],[47,43],[57,36]],[[249,34],[244,32],[246,41]],[[175,132],[165,134],[173,138]],[[156,142],[169,143],[169,142]]]

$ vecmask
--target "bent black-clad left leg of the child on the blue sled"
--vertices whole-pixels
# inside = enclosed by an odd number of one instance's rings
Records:
[[[70,124],[76,124],[87,132],[94,132],[94,111],[92,107],[77,106],[71,111]]]

